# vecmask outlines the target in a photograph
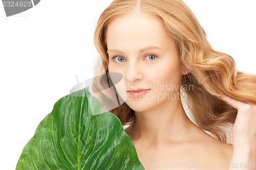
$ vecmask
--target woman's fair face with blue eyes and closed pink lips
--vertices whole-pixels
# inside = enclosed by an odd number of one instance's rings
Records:
[[[160,19],[132,13],[111,21],[106,32],[109,72],[123,75],[116,86],[125,103],[137,112],[179,100],[182,71],[176,45]]]

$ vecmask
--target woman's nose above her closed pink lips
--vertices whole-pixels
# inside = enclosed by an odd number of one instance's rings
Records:
[[[137,63],[129,63],[125,78],[129,82],[136,82],[143,78],[141,67]]]

